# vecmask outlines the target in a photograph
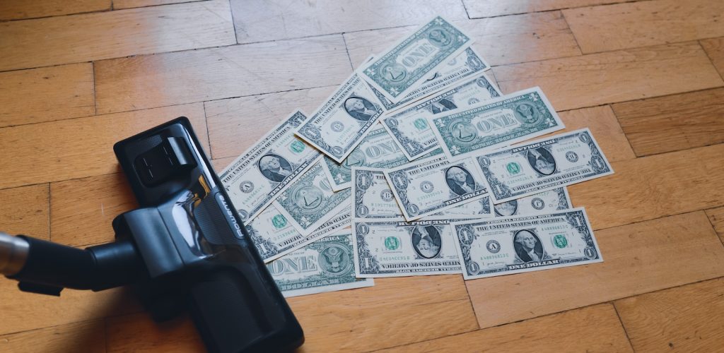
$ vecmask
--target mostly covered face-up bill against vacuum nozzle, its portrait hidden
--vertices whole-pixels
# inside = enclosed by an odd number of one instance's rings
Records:
[[[337,229],[349,226],[350,221],[350,210],[342,209],[340,213],[314,229],[311,234],[304,236],[277,210],[277,206],[269,205],[259,216],[246,224],[246,231],[261,259],[268,263],[316,239],[332,234]]]

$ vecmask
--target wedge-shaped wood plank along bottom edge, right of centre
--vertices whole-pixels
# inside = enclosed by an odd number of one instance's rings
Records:
[[[433,351],[633,352],[610,304],[399,346],[383,352]]]

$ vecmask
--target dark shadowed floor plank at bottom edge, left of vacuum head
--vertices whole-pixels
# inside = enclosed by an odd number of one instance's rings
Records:
[[[156,323],[146,313],[106,319],[108,352],[206,352],[193,322],[180,316]]]

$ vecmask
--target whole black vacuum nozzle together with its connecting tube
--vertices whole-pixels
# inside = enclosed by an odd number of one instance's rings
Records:
[[[261,260],[185,117],[114,151],[141,208],[113,221],[116,241],[85,250],[0,234],[0,274],[60,295],[133,284],[156,320],[190,312],[210,352],[280,352],[302,328]]]

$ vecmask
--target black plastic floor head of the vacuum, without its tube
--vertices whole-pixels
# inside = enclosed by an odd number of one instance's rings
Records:
[[[302,328],[256,252],[185,117],[114,145],[140,209],[114,220],[146,266],[156,320],[188,309],[210,352],[279,352]]]

